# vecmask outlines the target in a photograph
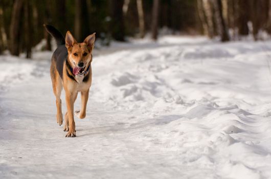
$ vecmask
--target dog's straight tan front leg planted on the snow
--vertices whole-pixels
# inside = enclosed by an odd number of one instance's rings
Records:
[[[75,122],[74,122],[74,98],[76,93],[66,92],[66,105],[67,105],[67,117],[69,118],[69,132],[66,137],[76,137],[75,134]]]

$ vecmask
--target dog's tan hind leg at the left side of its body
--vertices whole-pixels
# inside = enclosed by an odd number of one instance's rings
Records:
[[[58,74],[56,74],[56,71],[51,70],[51,79],[52,79],[52,84],[53,84],[53,91],[56,97],[56,108],[57,108],[57,113],[56,113],[56,122],[59,125],[62,125],[63,122],[63,116],[62,116],[62,108],[61,108],[61,91],[63,88],[61,78]]]

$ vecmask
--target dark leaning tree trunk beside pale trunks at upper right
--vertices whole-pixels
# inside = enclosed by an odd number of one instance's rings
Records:
[[[221,0],[214,0],[214,8],[215,8],[215,15],[216,15],[216,25],[221,37],[221,41],[229,41],[229,32],[228,27],[225,24],[225,20],[222,14],[222,2]]]

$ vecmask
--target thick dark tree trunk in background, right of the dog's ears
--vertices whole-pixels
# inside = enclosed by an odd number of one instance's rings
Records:
[[[125,30],[123,21],[123,0],[111,0],[111,23],[110,31],[115,40],[124,41]]]

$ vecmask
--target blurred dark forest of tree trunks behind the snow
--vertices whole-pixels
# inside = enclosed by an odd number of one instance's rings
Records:
[[[0,54],[31,58],[33,47],[52,50],[43,24],[77,41],[96,32],[101,44],[128,37],[153,40],[163,33],[206,35],[221,41],[271,33],[270,0],[1,0]]]

